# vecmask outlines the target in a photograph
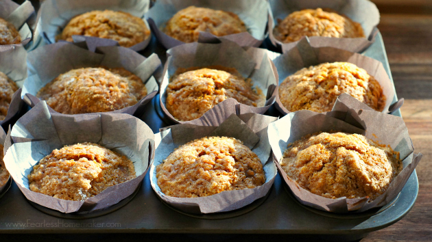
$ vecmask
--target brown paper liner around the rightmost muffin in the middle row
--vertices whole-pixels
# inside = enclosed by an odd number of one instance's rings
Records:
[[[279,84],[283,83],[289,75],[293,75],[298,70],[309,66],[316,66],[326,62],[349,62],[355,64],[359,68],[365,69],[369,75],[375,77],[381,88],[383,88],[383,94],[386,97],[383,112],[395,111],[394,107],[389,109],[395,96],[394,85],[387,72],[385,72],[383,64],[376,59],[333,47],[314,48],[309,43],[309,38],[304,37],[292,49],[284,49],[282,55],[274,53],[272,61],[278,70]],[[290,113],[281,103],[279,93],[276,95],[275,107],[284,116]],[[396,108],[400,108],[400,106],[396,105]]]

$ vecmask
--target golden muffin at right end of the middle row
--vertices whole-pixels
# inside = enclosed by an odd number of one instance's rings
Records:
[[[303,68],[279,86],[279,98],[288,111],[331,111],[340,94],[350,94],[376,111],[383,111],[385,96],[378,81],[355,64],[324,63]]]

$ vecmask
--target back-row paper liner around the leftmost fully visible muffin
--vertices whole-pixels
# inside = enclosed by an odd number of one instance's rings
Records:
[[[145,12],[149,10],[149,5],[149,0],[45,0],[40,5],[40,21],[38,27],[40,27],[40,33],[42,33],[45,42],[51,44],[56,42],[56,36],[63,31],[64,27],[73,17],[93,10],[113,10],[128,12],[133,16],[142,18],[145,25],[147,25],[147,28],[150,30],[149,24],[144,18]],[[73,36],[74,42],[82,42],[86,38],[88,37]],[[106,40],[106,42],[102,40]],[[102,45],[103,43],[109,46],[112,45],[112,42],[118,43],[110,39],[102,40],[99,46],[104,46]],[[144,41],[129,47],[129,49],[142,51],[147,47],[150,40],[152,40],[151,33]]]

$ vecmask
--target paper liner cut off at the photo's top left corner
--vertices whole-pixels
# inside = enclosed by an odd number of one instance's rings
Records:
[[[36,21],[36,13],[32,3],[26,0],[19,5],[11,0],[0,0],[0,6],[0,18],[12,23],[16,30],[19,31],[21,44],[28,44],[33,37],[31,27]]]

